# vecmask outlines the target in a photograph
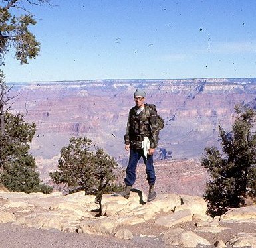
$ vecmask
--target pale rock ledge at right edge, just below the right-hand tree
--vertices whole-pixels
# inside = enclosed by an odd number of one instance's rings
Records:
[[[232,208],[221,216],[221,221],[239,221],[243,219],[254,219],[254,221],[256,220],[256,205],[242,208]]]

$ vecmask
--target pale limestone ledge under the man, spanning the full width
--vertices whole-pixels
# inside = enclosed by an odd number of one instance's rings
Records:
[[[99,216],[94,199],[84,192],[63,196],[61,192],[0,191],[0,223],[138,242],[148,238],[166,247],[256,247],[255,205],[231,209],[213,219],[206,215],[207,204],[199,196],[158,194],[146,203],[144,192],[133,189],[128,199],[104,194]]]

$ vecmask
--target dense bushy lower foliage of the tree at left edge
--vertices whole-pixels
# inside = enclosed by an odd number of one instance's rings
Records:
[[[0,133],[0,181],[10,191],[51,192],[41,184],[35,158],[29,154],[29,142],[35,135],[35,123],[26,123],[21,114],[5,113],[5,132]]]

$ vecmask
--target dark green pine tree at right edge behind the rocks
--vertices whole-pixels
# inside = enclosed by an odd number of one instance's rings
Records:
[[[212,216],[243,206],[248,196],[256,197],[256,113],[239,105],[235,113],[231,132],[219,125],[222,153],[207,147],[201,159],[210,176],[203,196]]]

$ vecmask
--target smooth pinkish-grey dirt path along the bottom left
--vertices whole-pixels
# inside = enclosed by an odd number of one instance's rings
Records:
[[[115,247],[166,247],[160,240],[134,237],[124,241],[115,237],[43,231],[11,224],[0,225],[0,248],[115,248]]]

